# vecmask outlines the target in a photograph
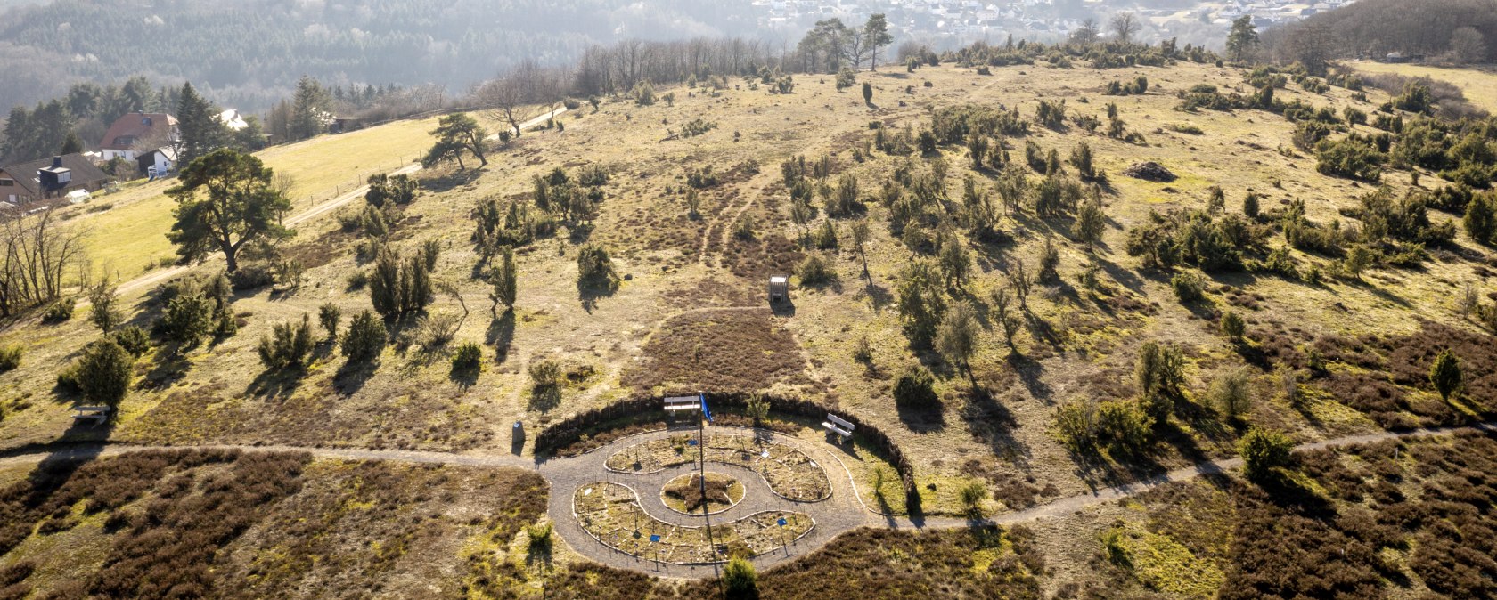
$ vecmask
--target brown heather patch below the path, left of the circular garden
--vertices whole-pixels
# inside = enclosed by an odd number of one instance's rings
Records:
[[[0,591],[454,596],[464,540],[507,545],[545,503],[539,476],[504,468],[216,450],[54,461],[0,491]]]

